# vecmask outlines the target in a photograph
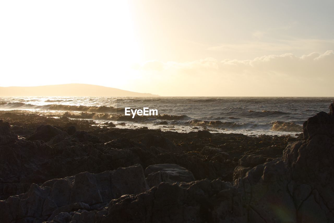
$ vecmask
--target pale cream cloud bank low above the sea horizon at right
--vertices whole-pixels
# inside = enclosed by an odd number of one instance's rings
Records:
[[[333,50],[301,57],[281,54],[253,60],[218,61],[206,58],[184,63],[149,61],[137,65],[136,70],[146,77],[145,83],[141,84],[160,95],[334,95]],[[162,86],[173,86],[173,90]]]

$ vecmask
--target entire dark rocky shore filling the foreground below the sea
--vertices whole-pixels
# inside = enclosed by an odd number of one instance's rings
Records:
[[[332,222],[334,114],[304,134],[0,113],[2,222]]]

